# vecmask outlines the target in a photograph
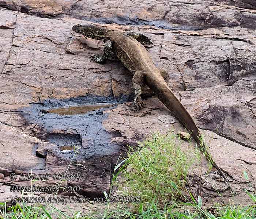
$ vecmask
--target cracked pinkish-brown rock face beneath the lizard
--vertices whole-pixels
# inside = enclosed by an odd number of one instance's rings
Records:
[[[90,62],[103,43],[72,31],[97,22],[135,29],[154,41],[155,65],[169,72],[169,86],[204,132],[212,157],[229,178],[235,203],[249,203],[256,168],[256,7],[252,0],[218,1],[0,0],[0,202],[10,201],[11,173],[79,173],[64,185],[103,196],[120,153],[154,131],[184,131],[145,88],[147,108],[134,112],[132,75],[114,57]],[[129,10],[127,10],[129,8]],[[7,10],[9,9],[9,10]],[[113,23],[113,24],[110,24]],[[109,105],[104,105],[107,103]],[[81,111],[71,105],[87,105]],[[62,108],[61,108],[62,107]],[[54,108],[54,110],[52,109]],[[184,144],[185,147],[186,144]],[[232,194],[203,161],[205,201],[215,191]],[[2,175],[3,174],[3,175]],[[191,173],[195,179],[199,172]],[[199,178],[198,178],[199,180]],[[196,182],[196,180],[195,180]],[[37,184],[44,184],[38,181]],[[52,178],[48,185],[55,185]],[[199,191],[199,190],[198,190]],[[41,192],[41,196],[46,194]]]

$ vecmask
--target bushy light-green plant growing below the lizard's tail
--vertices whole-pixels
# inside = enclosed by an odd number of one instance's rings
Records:
[[[157,197],[164,205],[182,198],[188,171],[198,154],[195,150],[182,151],[180,145],[181,140],[171,132],[153,134],[139,143],[137,151],[130,148],[127,168],[117,182],[119,190],[125,195],[141,196],[143,203]]]

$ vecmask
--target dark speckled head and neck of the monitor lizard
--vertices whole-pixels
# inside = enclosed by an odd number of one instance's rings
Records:
[[[109,31],[104,27],[95,26],[93,24],[77,24],[72,27],[72,30],[79,34],[83,34],[84,37],[92,39],[103,39],[105,37],[106,32]]]

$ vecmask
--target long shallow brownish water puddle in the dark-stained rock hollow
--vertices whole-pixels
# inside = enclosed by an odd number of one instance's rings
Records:
[[[90,111],[97,110],[99,108],[113,107],[116,104],[87,104],[79,106],[68,106],[68,107],[59,107],[52,108],[48,110],[41,110],[44,113],[55,113],[61,116],[63,115],[75,115],[75,114],[85,114]]]

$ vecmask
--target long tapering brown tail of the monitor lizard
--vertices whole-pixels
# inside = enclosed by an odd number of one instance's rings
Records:
[[[166,84],[165,81],[159,80],[158,77],[150,77],[150,83],[148,86],[156,93],[158,99],[171,111],[173,112],[174,116],[190,131],[192,132],[192,136],[195,141],[201,146],[202,151],[205,157],[211,162],[211,164],[218,170],[221,176],[226,181],[227,185],[233,192],[229,181],[227,180],[225,174],[222,170],[218,167],[218,165],[212,159],[210,153],[207,150],[205,145],[204,139],[196,126],[191,115],[189,115],[188,111],[185,107],[181,104],[181,102],[177,99],[177,97],[173,94],[169,86]],[[233,192],[234,193],[234,192]]]

